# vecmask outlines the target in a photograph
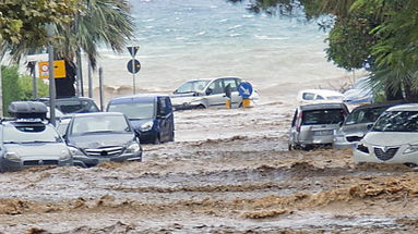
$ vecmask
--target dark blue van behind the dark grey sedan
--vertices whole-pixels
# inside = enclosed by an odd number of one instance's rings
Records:
[[[175,118],[167,95],[134,95],[111,99],[107,111],[122,112],[140,133],[141,143],[175,140]]]

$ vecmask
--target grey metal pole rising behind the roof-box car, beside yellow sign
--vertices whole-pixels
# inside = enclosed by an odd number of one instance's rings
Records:
[[[48,72],[49,72],[49,121],[55,126],[56,125],[56,81],[53,74],[53,28],[52,24],[48,24]]]

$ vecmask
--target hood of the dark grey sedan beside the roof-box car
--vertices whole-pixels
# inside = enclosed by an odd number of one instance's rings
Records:
[[[88,134],[70,136],[69,145],[79,148],[100,148],[107,146],[124,146],[134,139],[133,134]]]

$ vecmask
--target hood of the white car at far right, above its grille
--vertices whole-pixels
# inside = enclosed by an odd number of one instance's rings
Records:
[[[418,133],[370,132],[362,141],[374,146],[418,145]]]

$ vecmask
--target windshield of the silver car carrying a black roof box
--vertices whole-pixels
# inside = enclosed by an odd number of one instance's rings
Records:
[[[4,144],[61,141],[57,131],[49,125],[5,125],[3,128]]]

